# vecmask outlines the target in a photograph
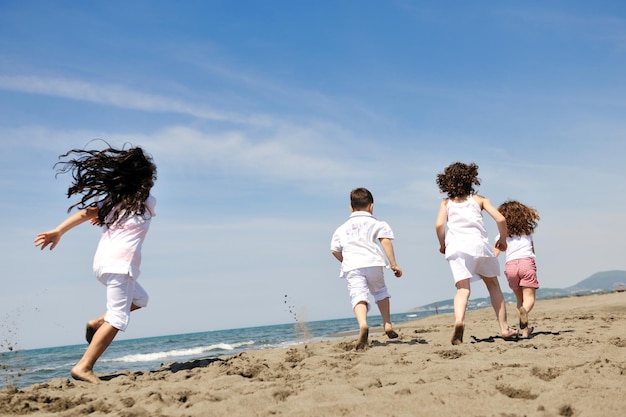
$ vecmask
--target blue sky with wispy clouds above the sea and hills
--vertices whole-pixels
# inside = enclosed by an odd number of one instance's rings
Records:
[[[330,239],[356,187],[395,233],[392,313],[452,298],[457,161],[537,208],[543,287],[626,269],[625,64],[621,1],[0,0],[0,350],[84,343],[104,312],[99,228],[33,244],[93,139],[158,167],[150,304],[118,339],[351,317]]]

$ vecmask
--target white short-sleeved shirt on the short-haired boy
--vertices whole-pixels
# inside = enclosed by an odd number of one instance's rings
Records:
[[[370,266],[389,268],[385,254],[379,245],[379,239],[393,239],[391,227],[376,219],[367,211],[355,211],[350,218],[339,226],[330,244],[330,250],[341,252],[340,277],[347,272]]]

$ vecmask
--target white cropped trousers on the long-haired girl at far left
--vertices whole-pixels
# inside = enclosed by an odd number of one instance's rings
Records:
[[[104,321],[125,331],[130,321],[130,307],[148,305],[148,293],[128,274],[102,274],[98,280],[107,287],[107,312]]]

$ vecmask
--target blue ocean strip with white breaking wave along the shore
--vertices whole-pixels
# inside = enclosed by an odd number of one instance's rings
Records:
[[[403,323],[431,314],[434,311],[392,314],[392,322]],[[382,325],[382,319],[372,315],[368,317],[368,323],[371,327],[378,327]],[[113,341],[96,363],[94,372],[154,371],[173,362],[233,355],[246,350],[284,348],[308,341],[329,340],[340,333],[357,330],[356,319],[350,317]],[[81,344],[0,352],[0,389],[6,386],[23,388],[52,378],[69,378],[70,369],[86,348],[87,344]]]

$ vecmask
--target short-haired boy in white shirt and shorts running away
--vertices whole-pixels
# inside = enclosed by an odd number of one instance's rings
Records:
[[[350,192],[350,211],[348,221],[339,226],[330,244],[331,253],[341,262],[342,278],[346,278],[352,309],[359,323],[359,338],[355,349],[361,350],[367,345],[369,327],[368,292],[374,300],[383,318],[384,330],[390,339],[398,337],[391,325],[389,312],[389,293],[385,285],[383,266],[391,268],[398,278],[402,269],[396,264],[391,240],[393,231],[386,222],[377,220],[373,215],[374,197],[365,188],[355,188]],[[384,251],[381,251],[380,246]],[[389,263],[385,261],[387,257]]]

